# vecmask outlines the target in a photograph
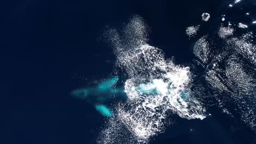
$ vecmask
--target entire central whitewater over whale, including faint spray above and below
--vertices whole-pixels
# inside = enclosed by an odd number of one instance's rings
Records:
[[[164,132],[171,113],[205,118],[205,108],[189,93],[190,68],[174,64],[162,50],[147,44],[141,17],[132,17],[121,31],[109,29],[106,35],[117,57],[117,73],[125,77],[127,101],[115,106],[98,143],[147,143]]]

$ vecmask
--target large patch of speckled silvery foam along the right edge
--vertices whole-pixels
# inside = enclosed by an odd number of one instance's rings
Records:
[[[228,22],[228,26],[222,23],[217,29],[218,37],[223,43],[218,45],[219,49],[216,53],[213,53],[216,47],[212,47],[213,44],[208,45],[208,40],[203,36],[196,41],[194,54],[203,65],[207,65],[205,82],[210,85],[208,88],[213,91],[211,95],[218,101],[217,105],[231,117],[235,116],[234,111],[239,113],[239,118],[256,132],[255,36],[252,32],[236,36],[234,26],[236,25],[231,22]],[[237,24],[237,27],[248,28],[241,22]],[[214,40],[216,37],[212,37],[211,43],[214,43]],[[208,61],[207,59],[210,58],[212,58],[211,61]],[[197,93],[202,93],[202,91]],[[225,97],[222,93],[230,96]],[[236,108],[231,108],[230,103]]]

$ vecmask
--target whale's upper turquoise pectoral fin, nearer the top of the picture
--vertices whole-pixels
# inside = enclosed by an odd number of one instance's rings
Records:
[[[118,80],[119,80],[118,76],[115,76],[111,79],[107,79],[98,85],[98,90],[109,91],[117,84]]]

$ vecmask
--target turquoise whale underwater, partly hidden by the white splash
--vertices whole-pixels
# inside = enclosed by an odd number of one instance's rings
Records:
[[[96,87],[79,88],[71,92],[73,97],[87,100],[94,105],[95,109],[101,113],[102,116],[111,117],[113,111],[107,106],[115,100],[125,101],[127,95],[124,86],[118,86],[118,76],[110,77],[100,83]],[[145,87],[139,85],[136,90],[141,93],[157,93],[158,89],[154,87]],[[188,94],[183,92],[182,99],[187,99]]]

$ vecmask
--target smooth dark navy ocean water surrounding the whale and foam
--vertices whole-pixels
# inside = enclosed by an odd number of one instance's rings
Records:
[[[241,2],[243,9],[232,11],[229,3],[233,1],[2,2],[1,86],[8,100],[10,139],[4,143],[96,143],[106,118],[70,92],[112,73],[115,58],[101,39],[104,29],[138,14],[150,27],[149,44],[187,64],[194,56],[185,28],[200,23],[202,13],[211,14],[212,29],[223,14],[230,21],[256,19],[255,2]],[[240,16],[243,10],[251,17]],[[176,118],[150,143],[253,143],[255,134],[239,118],[214,106],[207,112],[213,116],[203,121]]]

